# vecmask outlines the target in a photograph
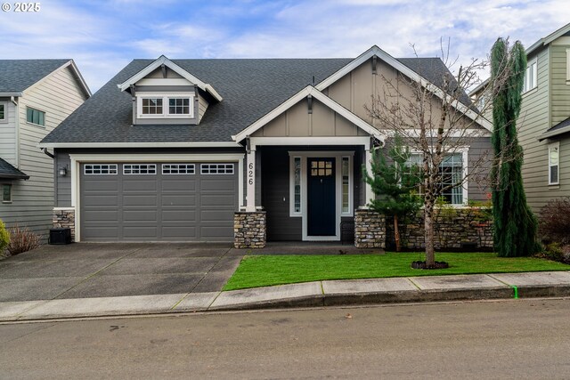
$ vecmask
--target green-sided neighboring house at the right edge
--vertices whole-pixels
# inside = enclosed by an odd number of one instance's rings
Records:
[[[538,213],[551,199],[570,197],[570,24],[528,47],[526,60],[518,141],[526,200]]]

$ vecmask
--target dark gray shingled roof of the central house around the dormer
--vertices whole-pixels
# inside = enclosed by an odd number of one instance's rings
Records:
[[[199,125],[132,125],[131,95],[117,85],[153,61],[129,63],[41,143],[232,141],[232,134],[353,59],[172,60],[216,88],[224,100],[211,104]],[[400,61],[410,69],[425,69],[419,74],[434,84],[447,70],[437,58]]]

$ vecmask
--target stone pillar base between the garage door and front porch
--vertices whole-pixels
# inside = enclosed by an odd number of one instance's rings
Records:
[[[233,214],[233,247],[265,247],[266,230],[265,211],[240,211]]]

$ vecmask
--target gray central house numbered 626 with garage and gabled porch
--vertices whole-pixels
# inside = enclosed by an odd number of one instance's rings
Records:
[[[339,240],[373,197],[362,165],[384,140],[364,105],[383,77],[416,69],[434,84],[448,73],[377,46],[356,59],[134,60],[41,142],[68,168],[57,224],[76,241],[232,241],[265,226],[269,240]],[[489,149],[485,133],[453,165]],[[260,219],[234,223],[239,211]]]

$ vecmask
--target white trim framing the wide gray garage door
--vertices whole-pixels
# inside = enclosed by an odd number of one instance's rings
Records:
[[[79,194],[81,164],[90,162],[118,163],[118,162],[237,162],[238,164],[238,206],[243,206],[243,159],[244,154],[70,154],[71,160],[71,206],[75,208],[75,241],[81,241],[81,207]]]

